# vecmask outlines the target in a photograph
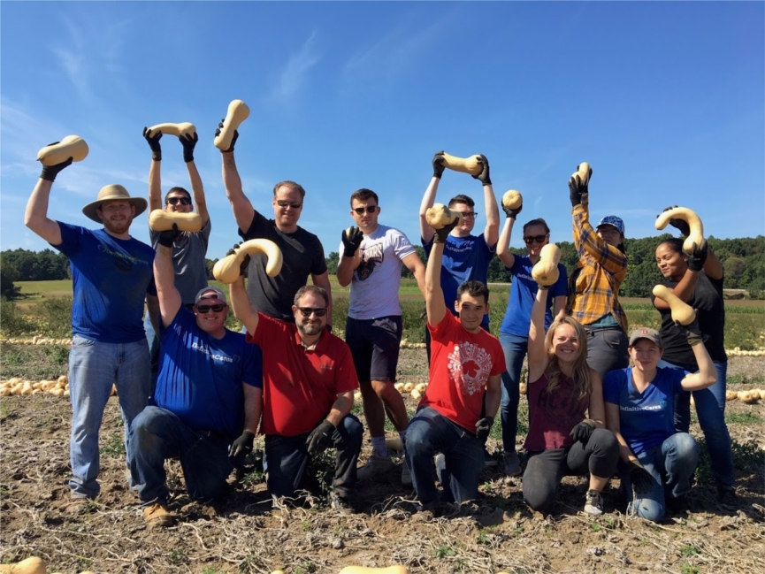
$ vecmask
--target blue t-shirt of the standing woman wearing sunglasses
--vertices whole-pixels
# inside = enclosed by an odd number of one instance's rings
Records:
[[[532,307],[537,297],[539,285],[532,278],[532,260],[526,256],[515,256],[513,266],[505,267],[505,272],[513,276],[513,284],[510,286],[510,299],[508,309],[505,310],[505,318],[500,326],[500,333],[516,335],[516,337],[528,337],[529,325],[532,323]],[[558,264],[560,276],[555,284],[547,289],[547,310],[545,310],[545,330],[553,323],[553,302],[559,295],[569,295],[568,278],[566,268]]]

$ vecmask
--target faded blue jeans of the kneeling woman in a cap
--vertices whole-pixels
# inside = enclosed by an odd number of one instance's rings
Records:
[[[687,432],[676,432],[637,456],[654,477],[654,484],[649,493],[632,495],[630,475],[625,472],[623,461],[619,462],[620,490],[627,499],[627,514],[661,522],[667,498],[679,498],[691,490],[691,477],[699,463],[699,445]]]

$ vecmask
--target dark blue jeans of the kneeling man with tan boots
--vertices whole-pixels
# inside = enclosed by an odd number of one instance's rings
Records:
[[[143,506],[167,504],[164,461],[168,458],[180,458],[188,495],[195,501],[217,498],[233,469],[224,433],[205,436],[159,407],[146,407],[135,417],[130,449],[130,474]]]

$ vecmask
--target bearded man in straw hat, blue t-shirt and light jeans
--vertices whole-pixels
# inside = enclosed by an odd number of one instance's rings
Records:
[[[146,200],[126,188],[108,185],[82,212],[103,229],[65,224],[48,217],[50,188],[70,157],[42,168],[27,203],[24,223],[68,257],[72,267],[72,348],[69,389],[72,402],[70,456],[74,477],[69,487],[76,506],[96,498],[100,486],[98,430],[103,409],[117,387],[119,409],[128,435],[134,417],[149,399],[149,346],[143,331],[143,301],[157,320],[154,249],[130,236],[130,224],[146,210]],[[76,508],[76,507],[75,507]]]

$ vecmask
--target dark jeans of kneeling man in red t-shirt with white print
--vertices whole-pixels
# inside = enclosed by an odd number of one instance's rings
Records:
[[[432,502],[438,490],[432,478],[433,455],[442,453],[450,475],[444,485],[455,501],[478,496],[478,480],[484,470],[484,444],[431,407],[417,410],[407,426],[406,463],[412,475],[417,500]]]

